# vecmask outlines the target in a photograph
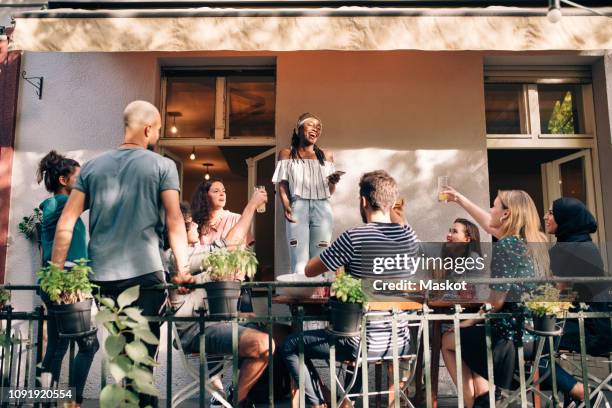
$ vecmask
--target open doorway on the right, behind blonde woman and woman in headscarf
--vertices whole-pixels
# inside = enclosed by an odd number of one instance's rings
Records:
[[[598,218],[590,149],[490,149],[488,161],[491,202],[498,190],[525,190],[543,216],[557,198],[574,197]]]

